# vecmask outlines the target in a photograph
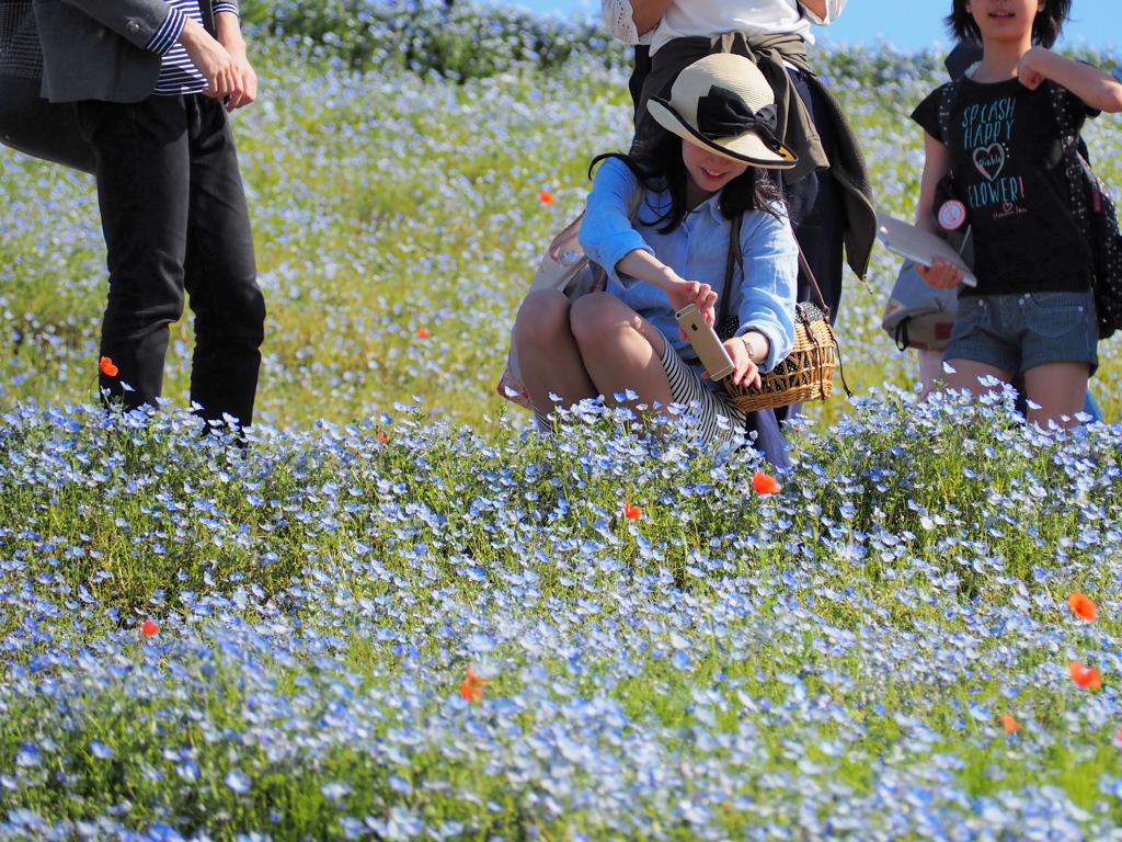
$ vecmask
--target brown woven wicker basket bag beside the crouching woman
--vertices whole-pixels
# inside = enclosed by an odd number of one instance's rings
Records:
[[[725,388],[745,412],[825,401],[834,390],[837,364],[838,342],[829,319],[816,304],[804,301],[795,309],[794,348],[787,359],[761,375],[758,388],[735,386],[729,381]]]

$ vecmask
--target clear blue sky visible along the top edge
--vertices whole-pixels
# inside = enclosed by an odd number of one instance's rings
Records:
[[[599,17],[599,0],[504,0],[534,11],[574,12]],[[820,37],[843,44],[875,44],[885,40],[904,51],[949,38],[941,18],[950,10],[950,0],[849,0],[842,17],[827,29],[816,28]],[[1065,28],[1064,42],[1089,47],[1122,47],[1122,0],[1074,0],[1073,20]]]

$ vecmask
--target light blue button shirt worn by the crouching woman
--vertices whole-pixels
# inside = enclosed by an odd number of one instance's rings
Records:
[[[659,234],[656,229],[661,223],[644,222],[655,222],[666,211],[670,193],[649,191],[633,225],[627,210],[638,189],[638,181],[622,161],[606,159],[596,171],[592,192],[588,195],[580,245],[607,271],[608,292],[661,330],[682,360],[700,376],[705,367],[698,363],[690,344],[679,338],[678,322],[666,294],[653,284],[616,272],[616,264],[641,248],[682,278],[709,284],[721,296],[725,294],[732,223],[717,207],[717,194],[690,212],[675,230]],[[760,364],[760,370],[766,373],[787,357],[794,345],[799,247],[785,216],[776,219],[763,211],[745,212],[741,246],[744,272],[737,268],[733,273],[728,312],[741,318],[738,336],[758,330],[767,337],[771,348],[767,358]],[[719,300],[717,311],[720,312]],[[708,379],[703,382],[714,388],[718,386]]]

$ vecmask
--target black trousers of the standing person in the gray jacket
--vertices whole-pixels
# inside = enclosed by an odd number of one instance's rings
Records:
[[[201,94],[75,106],[96,159],[109,298],[102,394],[156,404],[168,326],[194,313],[191,401],[205,419],[252,421],[265,336],[254,239],[226,110]]]

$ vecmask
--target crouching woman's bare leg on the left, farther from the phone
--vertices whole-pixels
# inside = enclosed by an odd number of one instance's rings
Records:
[[[569,308],[563,293],[540,290],[522,302],[514,322],[523,385],[534,406],[546,414],[553,411],[551,393],[563,406],[599,395],[569,329]]]

